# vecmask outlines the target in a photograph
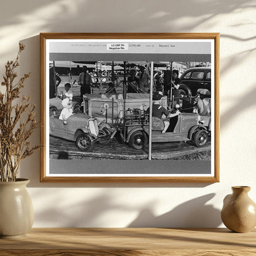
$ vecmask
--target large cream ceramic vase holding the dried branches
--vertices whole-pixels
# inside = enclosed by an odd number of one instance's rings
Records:
[[[33,204],[26,190],[30,182],[0,182],[0,238],[19,238],[30,231],[34,222]]]

